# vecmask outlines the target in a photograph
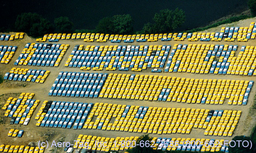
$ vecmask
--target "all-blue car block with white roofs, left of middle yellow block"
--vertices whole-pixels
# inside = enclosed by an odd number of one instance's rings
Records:
[[[61,71],[48,95],[97,98],[107,77],[107,73]]]

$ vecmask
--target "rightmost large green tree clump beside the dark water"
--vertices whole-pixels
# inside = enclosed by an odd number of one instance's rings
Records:
[[[182,26],[186,20],[185,12],[176,8],[160,10],[153,18],[153,23],[147,23],[143,27],[144,33],[168,33]]]

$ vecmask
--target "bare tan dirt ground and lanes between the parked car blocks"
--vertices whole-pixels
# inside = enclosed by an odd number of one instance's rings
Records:
[[[232,24],[221,25],[216,28],[209,29],[209,32],[217,32],[220,31],[222,26],[249,26],[250,22],[255,21],[256,18],[251,18],[247,20],[242,20],[239,22],[235,22]],[[24,48],[26,43],[35,42],[35,39],[29,38],[25,35],[23,40],[14,40],[12,41],[4,41],[0,42],[0,45],[8,45],[8,46],[18,46],[18,49],[13,56],[11,62],[9,64],[0,64],[0,74],[4,75],[6,72],[9,72],[12,67],[14,67],[14,62],[18,58],[19,54],[21,53],[22,49]],[[47,42],[48,43],[48,42]],[[255,40],[249,40],[248,42],[188,42],[185,40],[184,42],[145,42],[145,43],[137,43],[134,42],[132,44],[125,44],[120,43],[118,45],[171,45],[174,44],[232,44],[238,45],[238,49],[241,46],[255,46]],[[4,105],[8,97],[18,97],[19,93],[21,92],[31,92],[35,93],[34,99],[41,100],[41,103],[34,111],[32,119],[28,126],[20,126],[20,125],[10,125],[9,120],[10,118],[4,118],[3,114],[4,111],[0,111],[0,144],[13,144],[13,145],[28,145],[29,142],[37,142],[39,140],[58,140],[59,138],[63,138],[65,142],[72,142],[77,138],[79,134],[86,134],[86,135],[96,135],[96,136],[104,136],[104,137],[126,137],[126,136],[140,136],[141,133],[127,133],[127,132],[120,132],[120,131],[102,131],[102,130],[93,130],[93,129],[60,129],[60,128],[50,128],[50,127],[36,127],[34,120],[36,113],[38,112],[41,104],[44,100],[61,100],[61,101],[74,101],[74,102],[106,102],[106,103],[115,103],[115,104],[129,104],[129,105],[139,105],[139,106],[154,106],[154,107],[191,107],[191,108],[200,108],[200,109],[230,109],[230,110],[241,110],[242,115],[237,124],[236,130],[232,137],[237,135],[247,135],[249,136],[252,132],[252,128],[255,126],[256,123],[256,115],[253,111],[250,111],[250,107],[253,105],[253,99],[256,92],[256,86],[254,85],[252,91],[249,96],[249,102],[246,106],[228,106],[227,101],[224,102],[223,105],[206,105],[206,104],[183,104],[177,102],[150,102],[150,101],[139,101],[139,100],[118,100],[118,99],[100,99],[100,98],[74,98],[74,97],[48,97],[48,91],[50,90],[52,84],[54,83],[55,78],[58,76],[59,71],[80,71],[79,68],[70,68],[64,67],[64,63],[67,60],[68,56],[70,55],[72,48],[77,44],[83,45],[117,45],[112,44],[109,41],[106,43],[97,43],[97,42],[83,42],[83,40],[60,40],[58,44],[69,44],[70,47],[63,56],[63,60],[61,61],[59,67],[36,67],[36,66],[17,66],[22,68],[29,68],[29,69],[46,69],[50,70],[50,75],[46,79],[44,84],[37,84],[37,83],[25,83],[22,84],[20,82],[14,81],[4,81],[4,83],[0,84],[0,107]],[[236,52],[236,56],[238,51]],[[81,72],[81,71],[80,71]],[[95,73],[95,71],[88,71],[90,73]],[[128,73],[128,74],[137,74],[133,71],[122,72],[122,71],[101,71],[100,73]],[[98,72],[97,72],[98,73]],[[163,73],[163,74],[153,74],[151,73],[151,69],[147,69],[142,72],[143,74],[148,75],[165,75],[165,76],[178,76],[178,77],[186,77],[186,78],[208,78],[208,79],[235,79],[235,80],[254,80],[256,82],[256,77],[254,76],[235,76],[235,75],[202,75],[202,74],[190,74],[190,73]],[[111,120],[113,122],[113,119]],[[11,138],[7,137],[7,133],[9,129],[17,128],[23,129],[25,131],[22,138]],[[150,135],[154,137],[159,137],[159,135]],[[220,139],[224,137],[205,137],[203,129],[192,129],[189,135],[182,135],[182,134],[172,134],[172,135],[161,135],[160,137],[184,137],[184,138],[215,138]],[[231,140],[232,137],[226,137],[225,140]],[[45,152],[52,152],[52,148],[48,148]],[[63,149],[60,149],[56,152],[63,152]]]

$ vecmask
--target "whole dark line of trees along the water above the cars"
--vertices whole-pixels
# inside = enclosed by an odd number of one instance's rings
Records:
[[[109,33],[109,34],[134,34],[134,33],[168,33],[182,26],[185,22],[185,12],[181,9],[164,9],[156,13],[152,23],[144,25],[141,31],[134,31],[134,20],[129,14],[114,15],[102,18],[95,29],[74,29],[74,24],[68,17],[55,18],[51,23],[37,13],[22,13],[17,16],[14,29],[8,31],[22,31],[29,36],[39,37],[46,33]]]

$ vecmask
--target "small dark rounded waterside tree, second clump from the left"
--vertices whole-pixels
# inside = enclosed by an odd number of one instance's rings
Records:
[[[72,33],[73,22],[66,16],[61,16],[54,20],[56,33]]]

